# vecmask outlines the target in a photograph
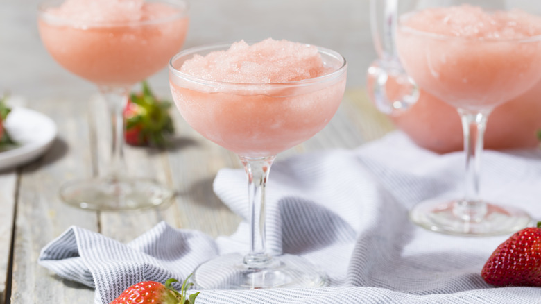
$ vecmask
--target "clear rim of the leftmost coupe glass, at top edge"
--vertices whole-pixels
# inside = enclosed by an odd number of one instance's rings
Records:
[[[160,17],[157,19],[148,19],[148,20],[128,20],[128,21],[119,21],[119,22],[101,22],[101,21],[83,21],[80,22],[75,19],[70,19],[66,17],[59,17],[57,15],[51,14],[47,9],[51,7],[58,7],[61,0],[44,0],[41,1],[37,6],[37,16],[38,18],[44,20],[45,22],[53,22],[59,25],[68,25],[74,28],[115,28],[115,27],[125,27],[125,26],[144,26],[144,25],[153,25],[153,24],[162,24],[166,22],[171,22],[177,19],[183,19],[189,15],[189,1],[188,0],[153,0],[151,2],[167,3],[175,8],[180,8],[180,12],[166,17]],[[53,4],[55,4],[53,6]]]

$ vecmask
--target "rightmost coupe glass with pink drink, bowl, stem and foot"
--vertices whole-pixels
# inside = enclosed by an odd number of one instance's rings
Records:
[[[497,105],[526,92],[541,78],[540,19],[527,17],[526,12],[531,13],[532,7],[521,7],[531,4],[535,3],[400,1],[396,35],[400,62],[422,90],[456,108],[463,124],[465,195],[460,199],[445,202],[432,199],[415,205],[410,213],[411,219],[424,228],[454,235],[501,235],[513,233],[527,226],[531,220],[522,210],[494,205],[479,197],[483,133],[490,112]],[[458,22],[454,19],[457,14],[444,15],[441,19],[434,17],[430,24],[418,24],[420,10],[449,6],[480,7],[494,18],[502,12],[513,12],[515,19],[502,25],[499,33],[492,32],[491,36],[484,37],[476,34],[499,21],[488,21],[479,17],[481,15],[464,16],[461,12],[459,18],[471,18],[474,25],[461,23],[458,30],[449,34],[434,31]],[[526,20],[538,24],[529,29],[536,32],[515,36]],[[417,25],[412,26],[415,23]],[[504,32],[513,35],[502,37]]]

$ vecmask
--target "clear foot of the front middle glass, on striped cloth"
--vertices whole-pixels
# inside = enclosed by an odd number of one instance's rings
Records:
[[[266,267],[249,268],[241,254],[232,253],[200,264],[194,271],[198,289],[322,287],[327,282],[323,271],[297,255],[280,255]]]

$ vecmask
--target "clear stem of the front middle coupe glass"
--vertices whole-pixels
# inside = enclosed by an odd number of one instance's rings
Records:
[[[265,245],[265,187],[275,156],[246,158],[239,156],[248,177],[248,203],[250,218],[250,252],[244,264],[250,268],[264,267],[271,260]]]

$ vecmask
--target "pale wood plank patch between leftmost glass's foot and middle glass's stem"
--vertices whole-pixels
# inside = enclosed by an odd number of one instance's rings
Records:
[[[237,155],[196,133],[178,112],[175,125],[182,149],[169,153],[173,185],[178,189],[179,227],[201,230],[216,237],[230,235],[240,218],[212,191],[212,183],[222,168],[239,168]]]

